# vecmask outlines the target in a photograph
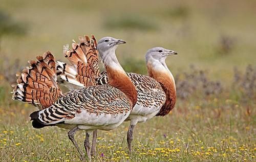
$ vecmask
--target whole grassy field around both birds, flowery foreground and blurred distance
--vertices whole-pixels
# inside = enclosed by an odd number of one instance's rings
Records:
[[[0,4],[0,11],[27,29],[24,36],[0,37],[0,161],[79,161],[67,130],[32,128],[29,114],[36,108],[13,101],[10,85],[27,60],[47,50],[66,61],[62,45],[83,34],[127,41],[117,50],[126,71],[146,74],[144,53],[149,48],[179,53],[167,58],[177,80],[175,109],[135,127],[132,155],[126,147],[129,123],[99,131],[93,161],[256,160],[254,1]],[[234,66],[243,75],[233,72]],[[80,147],[84,138],[77,133]]]

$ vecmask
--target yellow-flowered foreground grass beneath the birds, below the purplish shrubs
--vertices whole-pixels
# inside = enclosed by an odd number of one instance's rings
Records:
[[[3,82],[2,78],[0,160],[79,161],[68,130],[32,128],[29,114],[36,109],[12,101],[11,88]],[[125,140],[129,123],[99,131],[93,161],[254,161],[255,95],[249,98],[239,88],[235,92],[226,88],[209,96],[198,89],[187,99],[178,98],[166,117],[138,124],[132,155],[127,154]],[[83,148],[84,132],[75,138]]]

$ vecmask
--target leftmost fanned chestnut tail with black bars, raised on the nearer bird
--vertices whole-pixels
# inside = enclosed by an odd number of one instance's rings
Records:
[[[54,56],[46,52],[29,61],[30,66],[22,74],[16,74],[17,84],[13,85],[13,99],[29,104],[39,104],[41,109],[54,104],[62,96],[57,84]]]

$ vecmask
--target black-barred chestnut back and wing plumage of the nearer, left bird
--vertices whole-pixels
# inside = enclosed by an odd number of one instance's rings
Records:
[[[132,103],[123,92],[105,84],[68,92],[55,104],[40,111],[38,120],[42,124],[52,124],[73,119],[82,110],[100,115],[130,113],[131,108]]]

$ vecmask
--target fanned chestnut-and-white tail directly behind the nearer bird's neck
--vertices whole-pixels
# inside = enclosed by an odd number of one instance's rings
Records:
[[[79,43],[73,40],[72,49],[68,45],[63,46],[63,54],[71,62],[72,66],[64,62],[57,62],[57,75],[62,81],[87,87],[97,85],[99,75],[97,42],[92,35],[79,37]],[[66,86],[68,83],[65,83]],[[68,85],[70,89],[72,86]]]

